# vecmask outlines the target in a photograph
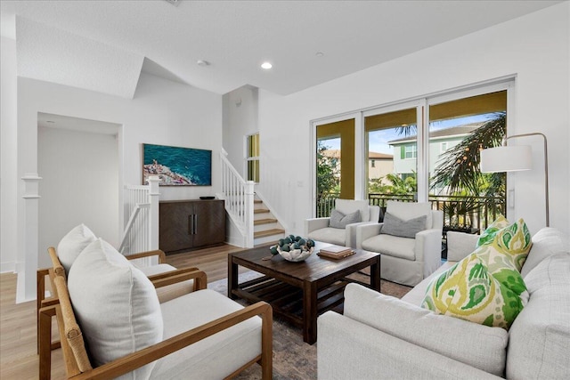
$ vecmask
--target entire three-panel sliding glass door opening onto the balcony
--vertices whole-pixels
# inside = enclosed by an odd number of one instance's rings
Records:
[[[379,206],[389,199],[428,201],[444,211],[447,228],[486,228],[498,213],[505,213],[506,177],[481,174],[479,151],[501,144],[512,85],[505,80],[406,101],[401,107],[394,103],[361,110],[344,130],[338,123],[314,123],[322,153],[317,153],[315,171],[321,178],[316,181],[317,202],[323,179],[338,179],[329,198],[368,198]],[[346,138],[341,131],[356,137]],[[356,161],[347,161],[354,157]],[[330,175],[322,176],[319,162],[330,164]],[[346,191],[354,189],[356,194]],[[326,213],[317,207],[317,215]]]

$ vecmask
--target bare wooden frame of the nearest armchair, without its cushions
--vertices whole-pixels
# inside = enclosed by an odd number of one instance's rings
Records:
[[[52,255],[52,253],[50,253],[50,255]],[[52,255],[52,257],[57,259],[56,255]],[[65,271],[61,271],[59,268],[52,268],[48,272],[54,289],[54,297],[49,301],[45,300],[41,303],[42,307],[38,311],[38,346],[40,353],[39,378],[41,380],[49,379],[51,377],[52,350],[55,348],[52,344],[53,316],[56,316],[58,319],[58,327],[61,336],[61,349],[68,378],[115,378],[131,372],[136,368],[141,368],[155,360],[165,358],[170,353],[182,350],[191,344],[197,344],[210,336],[214,336],[230,327],[235,327],[240,322],[256,316],[261,317],[260,353],[255,359],[249,360],[248,362],[241,364],[239,368],[232,370],[232,373],[229,376],[226,376],[226,378],[238,375],[241,370],[248,368],[256,362],[262,367],[262,377],[264,379],[271,379],[273,376],[273,311],[271,306],[264,302],[240,308],[240,310],[233,311],[220,318],[210,320],[208,323],[201,326],[193,327],[181,334],[171,336],[157,344],[152,344],[140,351],[133,352],[122,358],[112,360],[102,366],[94,368],[85,349],[84,335],[81,327],[77,323],[74,309],[71,306]],[[165,287],[176,281],[186,281],[189,279],[194,280],[197,293],[203,291],[206,292],[204,295],[208,296],[208,292],[212,292],[211,290],[206,289],[206,273],[196,270],[195,268],[179,270],[176,271],[175,274],[161,274],[153,280],[153,284],[155,287]],[[193,295],[185,295],[180,297],[181,299],[178,301],[191,302],[190,298],[186,300],[184,297],[192,296]],[[225,297],[223,298],[224,303],[234,303]]]

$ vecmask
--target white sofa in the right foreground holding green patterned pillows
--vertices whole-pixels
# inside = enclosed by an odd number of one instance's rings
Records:
[[[344,315],[318,319],[318,377],[570,378],[570,247],[545,228],[521,274],[530,298],[509,331],[419,307],[428,282],[473,252],[477,236],[448,233],[448,258],[401,300],[349,284]]]

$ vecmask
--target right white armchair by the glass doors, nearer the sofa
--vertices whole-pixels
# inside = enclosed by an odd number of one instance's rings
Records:
[[[384,222],[358,226],[356,247],[381,254],[382,279],[413,287],[441,265],[443,228],[443,212],[429,203],[388,201]]]

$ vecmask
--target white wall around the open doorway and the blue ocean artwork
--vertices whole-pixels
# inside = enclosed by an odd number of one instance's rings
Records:
[[[198,198],[202,195],[215,194],[219,190],[220,174],[217,168],[222,145],[221,95],[144,73],[139,80],[133,100],[20,77],[18,79],[18,178],[28,173],[42,176],[37,169],[38,111],[123,125],[118,150],[121,188],[123,184],[142,182],[141,144],[146,142],[213,150],[212,186],[162,187],[160,199]],[[34,296],[35,289],[35,273],[31,272],[31,268],[37,267],[37,253],[45,255],[46,247],[33,247],[30,240],[24,238],[23,231],[29,222],[23,221],[22,215],[32,219],[34,215],[26,213],[21,198],[23,191],[23,183],[20,181],[19,196],[12,199],[18,203],[18,213],[8,217],[14,219],[19,217],[18,253],[27,262],[26,294],[19,295],[30,299]],[[39,195],[41,197],[41,190]],[[120,198],[121,194],[119,202]],[[41,198],[39,201],[41,202]],[[121,211],[119,210],[119,213]],[[121,225],[122,223],[121,220]],[[38,226],[38,229],[42,228],[41,225]],[[93,228],[96,230],[98,226]],[[14,238],[3,236],[4,239]]]

